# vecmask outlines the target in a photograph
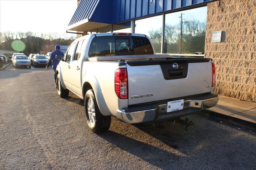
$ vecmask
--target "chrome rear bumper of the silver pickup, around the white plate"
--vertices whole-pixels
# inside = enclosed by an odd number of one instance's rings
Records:
[[[167,113],[167,103],[158,105],[154,109],[134,111],[130,113],[126,113],[126,111],[118,109],[116,118],[129,124],[172,119],[175,117],[190,115],[202,109],[213,107],[218,103],[218,100],[219,97],[205,100],[186,100],[184,101],[184,108],[182,110],[169,113]]]

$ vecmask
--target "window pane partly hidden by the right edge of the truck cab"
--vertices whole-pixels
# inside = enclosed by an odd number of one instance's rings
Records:
[[[161,53],[162,15],[135,21],[135,33],[146,34],[156,51]]]

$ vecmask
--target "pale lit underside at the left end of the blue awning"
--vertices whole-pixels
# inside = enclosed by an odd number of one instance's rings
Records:
[[[88,31],[95,30],[97,28],[102,28],[105,26],[109,26],[111,24],[101,23],[101,22],[90,22],[88,19],[84,19],[82,21],[76,22],[71,26],[68,26],[66,30],[70,31]]]

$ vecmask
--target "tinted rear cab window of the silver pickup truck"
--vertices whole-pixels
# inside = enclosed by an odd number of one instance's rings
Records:
[[[99,36],[92,39],[89,57],[154,54],[148,38],[140,36]]]

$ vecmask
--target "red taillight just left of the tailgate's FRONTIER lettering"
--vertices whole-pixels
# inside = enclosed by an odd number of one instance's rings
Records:
[[[126,68],[117,69],[115,72],[115,91],[120,99],[128,99],[128,76]]]

